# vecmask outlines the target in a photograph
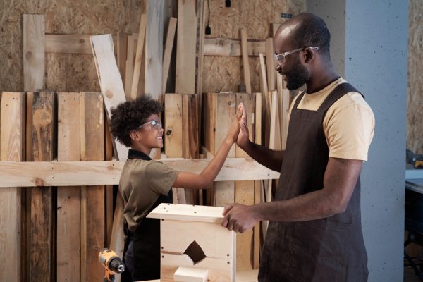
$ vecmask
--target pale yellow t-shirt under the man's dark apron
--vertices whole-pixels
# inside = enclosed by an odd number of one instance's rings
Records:
[[[338,78],[319,92],[306,93],[298,109],[317,111],[331,91],[345,82],[343,78]],[[288,121],[297,98],[290,105]],[[329,157],[367,161],[367,152],[374,135],[374,115],[360,93],[349,92],[333,103],[324,116],[323,130]]]

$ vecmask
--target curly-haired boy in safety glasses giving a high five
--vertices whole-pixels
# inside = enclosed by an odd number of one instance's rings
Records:
[[[163,128],[159,113],[163,107],[143,95],[111,109],[111,134],[130,147],[123,166],[119,190],[125,202],[126,269],[122,281],[143,281],[160,278],[160,223],[146,219],[161,203],[172,203],[172,187],[207,188],[216,178],[240,130],[243,105],[221,143],[216,156],[200,174],[176,171],[161,161],[150,159],[153,148],[163,147]]]

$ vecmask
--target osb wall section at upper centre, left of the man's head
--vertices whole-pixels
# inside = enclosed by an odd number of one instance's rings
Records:
[[[212,27],[207,37],[240,39],[240,28],[247,30],[248,39],[264,40],[271,37],[271,23],[283,23],[281,13],[296,15],[305,11],[305,0],[232,0],[231,8],[225,1],[203,0],[204,22]],[[210,10],[208,10],[208,6]],[[250,57],[250,76],[253,92],[259,92],[259,59]],[[243,83],[241,57],[204,56],[202,92],[238,91]]]

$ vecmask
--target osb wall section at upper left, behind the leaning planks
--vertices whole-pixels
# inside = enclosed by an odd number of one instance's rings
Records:
[[[0,90],[23,91],[23,14],[42,14],[46,33],[138,32],[145,0],[0,1]],[[47,89],[99,92],[91,55],[47,54]]]

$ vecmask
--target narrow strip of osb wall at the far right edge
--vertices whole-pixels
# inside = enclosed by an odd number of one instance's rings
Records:
[[[423,154],[423,1],[410,0],[407,148]]]

